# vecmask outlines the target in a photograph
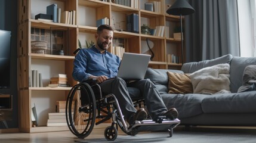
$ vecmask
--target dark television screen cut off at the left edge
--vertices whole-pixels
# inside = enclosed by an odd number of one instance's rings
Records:
[[[0,89],[10,88],[11,32],[0,30]]]

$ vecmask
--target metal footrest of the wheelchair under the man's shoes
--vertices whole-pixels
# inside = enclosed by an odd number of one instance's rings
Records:
[[[175,128],[180,124],[179,119],[168,120],[165,117],[161,117],[157,121],[153,120],[142,120],[142,121],[135,121],[135,124],[128,129],[128,132],[131,130],[137,130],[138,132],[141,131],[165,131],[172,128]]]

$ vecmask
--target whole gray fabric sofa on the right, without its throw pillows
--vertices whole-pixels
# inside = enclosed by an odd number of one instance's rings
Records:
[[[166,71],[193,73],[221,63],[230,64],[232,93],[168,94]],[[181,125],[256,126],[256,91],[238,93],[239,87],[243,85],[243,71],[249,65],[256,65],[256,57],[233,57],[228,54],[214,60],[185,63],[181,70],[149,68],[145,78],[155,83],[167,108],[177,108]]]

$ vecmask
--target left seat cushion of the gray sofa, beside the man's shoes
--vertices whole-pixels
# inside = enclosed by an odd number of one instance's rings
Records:
[[[178,118],[193,117],[202,114],[201,102],[209,95],[202,94],[162,94],[166,107],[175,107],[178,110]]]

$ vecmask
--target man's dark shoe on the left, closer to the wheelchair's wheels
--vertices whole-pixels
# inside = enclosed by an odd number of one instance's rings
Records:
[[[136,111],[136,113],[132,114],[131,117],[128,119],[129,125],[134,125],[135,120],[141,121],[147,119],[147,112],[144,108],[140,108]]]

